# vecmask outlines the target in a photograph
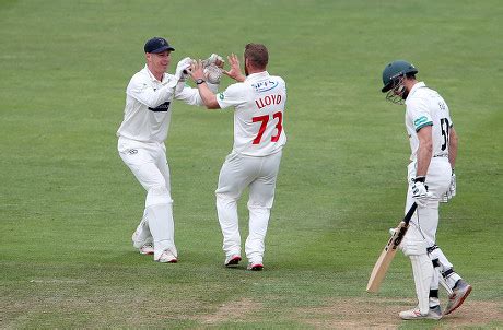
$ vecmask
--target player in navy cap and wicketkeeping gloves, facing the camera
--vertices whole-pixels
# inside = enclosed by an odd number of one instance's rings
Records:
[[[132,235],[133,246],[142,255],[153,254],[154,261],[174,263],[178,252],[164,140],[173,99],[199,106],[203,103],[197,89],[185,85],[184,70],[190,67],[190,58],[179,61],[173,75],[166,69],[175,48],[165,38],[153,37],[143,49],[147,64],[131,78],[126,90],[124,121],[117,131],[118,152],[147,191],[143,217]],[[220,57],[210,57],[206,64],[215,64],[215,58]],[[217,92],[215,84],[209,87]]]

